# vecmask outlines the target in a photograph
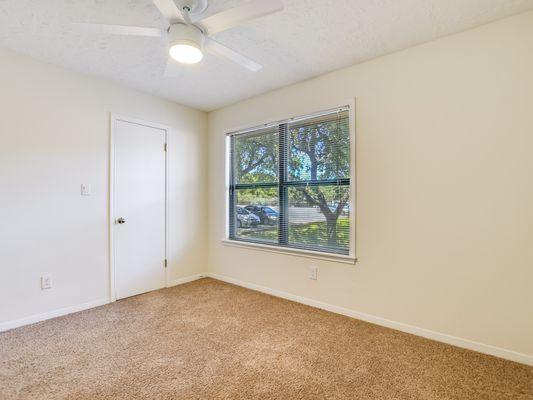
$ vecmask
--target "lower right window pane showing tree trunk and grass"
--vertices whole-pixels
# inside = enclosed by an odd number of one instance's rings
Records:
[[[289,188],[289,245],[348,253],[350,248],[349,186]]]

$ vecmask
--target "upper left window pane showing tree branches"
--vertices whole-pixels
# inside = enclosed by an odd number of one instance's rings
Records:
[[[261,130],[235,138],[235,183],[278,181],[278,131]]]

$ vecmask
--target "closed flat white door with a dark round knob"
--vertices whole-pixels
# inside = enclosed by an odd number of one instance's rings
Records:
[[[165,286],[166,131],[114,120],[116,298]]]

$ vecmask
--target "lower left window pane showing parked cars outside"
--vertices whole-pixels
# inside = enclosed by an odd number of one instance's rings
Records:
[[[278,189],[237,189],[235,236],[268,243],[278,242]]]

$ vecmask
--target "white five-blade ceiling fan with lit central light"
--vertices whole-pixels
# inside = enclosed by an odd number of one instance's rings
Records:
[[[250,71],[262,66],[248,57],[214,40],[211,35],[233,28],[252,19],[283,10],[281,0],[252,0],[248,3],[203,18],[208,0],[152,0],[168,21],[167,29],[141,26],[77,23],[85,32],[161,37],[168,41],[169,59],[165,75],[171,76],[173,60],[195,64],[207,51],[229,59]]]

